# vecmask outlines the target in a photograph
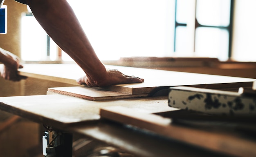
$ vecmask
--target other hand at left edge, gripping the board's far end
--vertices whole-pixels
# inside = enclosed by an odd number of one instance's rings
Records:
[[[20,81],[27,77],[18,75],[17,69],[23,68],[18,56],[0,48],[0,62],[4,64],[0,69],[0,76],[6,80]]]

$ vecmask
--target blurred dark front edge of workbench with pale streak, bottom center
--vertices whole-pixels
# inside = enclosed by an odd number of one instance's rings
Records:
[[[159,138],[148,132],[136,131],[110,121],[67,128],[72,133],[116,146],[135,157],[230,157],[199,147],[182,144],[177,140]]]

